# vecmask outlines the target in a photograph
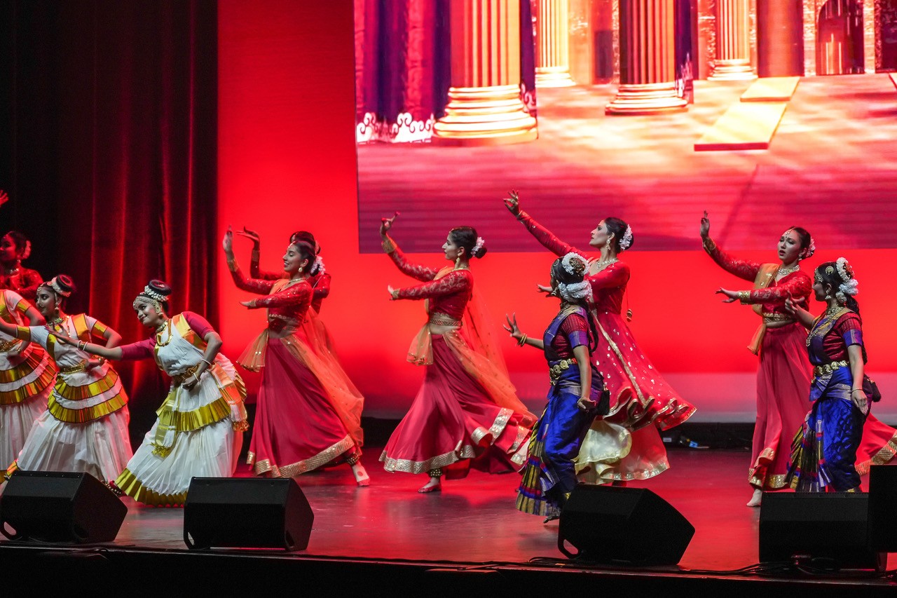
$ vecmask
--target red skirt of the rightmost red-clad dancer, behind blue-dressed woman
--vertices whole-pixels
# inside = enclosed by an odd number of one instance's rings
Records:
[[[813,366],[806,330],[798,323],[766,330],[757,373],[757,420],[748,482],[764,490],[785,488],[791,441],[810,410]]]

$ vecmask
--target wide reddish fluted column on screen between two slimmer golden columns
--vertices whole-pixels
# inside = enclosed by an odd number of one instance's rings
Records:
[[[675,84],[675,0],[620,0],[620,89],[606,112],[686,108]]]

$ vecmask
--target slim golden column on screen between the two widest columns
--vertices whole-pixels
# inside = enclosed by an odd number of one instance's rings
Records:
[[[570,0],[538,0],[536,88],[569,87]]]

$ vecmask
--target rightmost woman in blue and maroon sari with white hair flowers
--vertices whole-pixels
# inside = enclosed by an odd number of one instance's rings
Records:
[[[827,304],[818,318],[788,301],[786,309],[810,330],[813,408],[794,441],[787,481],[791,488],[812,492],[854,492],[859,474],[854,466],[869,413],[864,390],[866,347],[857,295],[857,279],[847,259],[827,261],[815,271],[817,301]]]

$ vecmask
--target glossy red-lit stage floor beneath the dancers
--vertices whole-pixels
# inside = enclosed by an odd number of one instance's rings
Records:
[[[557,522],[514,508],[516,474],[472,472],[443,483],[441,493],[420,495],[424,476],[387,473],[367,450],[371,485],[355,486],[345,465],[300,476],[315,513],[309,548],[297,555],[348,558],[526,563],[562,558]],[[758,560],[760,509],[745,506],[751,495],[744,451],[672,449],[670,470],[631,484],[650,488],[675,506],[696,532],[680,567],[726,570]],[[241,475],[248,470],[241,468]],[[126,498],[128,514],[115,545],[121,548],[185,549],[183,510],[139,506]],[[889,568],[897,567],[891,555]]]

